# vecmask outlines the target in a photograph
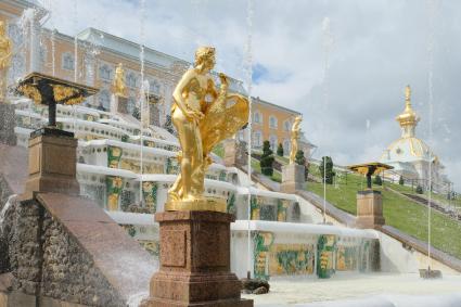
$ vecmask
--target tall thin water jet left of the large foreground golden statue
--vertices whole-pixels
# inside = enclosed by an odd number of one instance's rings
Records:
[[[144,22],[145,22],[145,0],[141,0],[141,25],[140,25],[140,51],[139,51],[139,61],[141,62],[141,93],[140,93],[140,100],[139,100],[139,113],[140,113],[140,127],[141,127],[141,133],[140,133],[140,145],[141,145],[141,152],[140,152],[140,180],[139,180],[139,203],[142,204],[142,172],[143,172],[143,157],[142,157],[142,150],[143,150],[143,143],[142,143],[142,135],[144,131],[142,118],[143,118],[143,102],[145,100],[145,89],[144,89]]]

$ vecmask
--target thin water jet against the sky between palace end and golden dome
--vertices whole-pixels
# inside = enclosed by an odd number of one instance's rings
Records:
[[[328,112],[329,105],[329,71],[330,71],[330,52],[333,47],[333,35],[330,27],[330,18],[324,17],[322,22],[323,37],[323,106],[324,114]],[[326,126],[325,126],[326,129]],[[323,159],[323,223],[326,222],[326,158]]]

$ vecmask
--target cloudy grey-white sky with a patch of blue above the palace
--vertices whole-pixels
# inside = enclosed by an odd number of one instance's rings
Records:
[[[302,112],[313,156],[340,165],[376,161],[399,138],[410,85],[417,136],[461,192],[461,1],[42,2],[47,26],[67,35],[91,26],[190,62],[197,46],[216,47],[216,71]]]

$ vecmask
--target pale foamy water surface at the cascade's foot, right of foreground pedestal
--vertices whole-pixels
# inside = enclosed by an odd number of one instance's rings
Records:
[[[260,307],[461,306],[461,276],[444,276],[443,279],[438,280],[423,280],[418,274],[384,273],[336,274],[330,280],[294,277],[291,279],[273,279],[270,281],[270,286],[271,291],[269,294],[243,296],[254,299],[255,306]],[[427,295],[433,300],[422,297]],[[350,299],[355,302],[347,303]],[[434,302],[434,299],[437,302],[446,300],[448,303],[445,305],[441,303],[441,305],[423,304],[424,302],[428,304],[430,302]],[[456,304],[458,305],[452,305],[452,300],[457,300]],[[408,302],[408,305],[401,305],[395,302]]]

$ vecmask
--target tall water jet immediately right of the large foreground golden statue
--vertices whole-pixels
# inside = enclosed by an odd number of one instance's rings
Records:
[[[253,53],[252,53],[252,31],[253,31],[253,0],[247,0],[247,8],[246,8],[246,27],[247,27],[247,37],[246,37],[246,50],[245,50],[245,63],[244,66],[246,68],[246,85],[248,90],[248,102],[249,102],[249,115],[248,115],[248,179],[249,182],[252,181],[252,86],[253,86]],[[252,232],[249,230],[249,221],[252,219],[252,195],[249,193],[248,189],[248,264],[247,264],[247,277],[251,277],[252,271]]]

